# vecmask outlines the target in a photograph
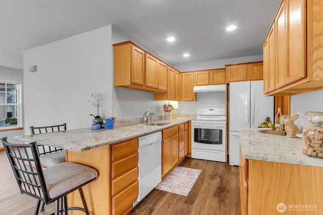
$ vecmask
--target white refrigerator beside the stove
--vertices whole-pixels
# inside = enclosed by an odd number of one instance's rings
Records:
[[[274,97],[263,95],[263,81],[229,84],[229,164],[239,166],[239,128],[257,128],[269,116],[274,121]]]

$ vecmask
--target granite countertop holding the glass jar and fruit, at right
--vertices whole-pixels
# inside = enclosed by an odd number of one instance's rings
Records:
[[[302,138],[260,133],[255,128],[240,128],[242,158],[323,167],[323,159],[302,153]]]

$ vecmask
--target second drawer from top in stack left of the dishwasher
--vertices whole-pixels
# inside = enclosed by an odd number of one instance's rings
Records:
[[[121,159],[113,163],[111,168],[111,177],[116,178],[129,170],[138,166],[138,154],[128,156],[127,158]]]

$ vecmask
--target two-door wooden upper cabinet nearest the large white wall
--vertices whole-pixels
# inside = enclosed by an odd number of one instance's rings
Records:
[[[165,92],[159,86],[159,60],[131,41],[114,44],[114,86],[148,92]],[[162,62],[163,63],[163,62]]]

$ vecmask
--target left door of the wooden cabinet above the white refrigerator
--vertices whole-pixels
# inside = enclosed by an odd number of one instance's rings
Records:
[[[226,65],[227,82],[247,81],[247,64]]]

